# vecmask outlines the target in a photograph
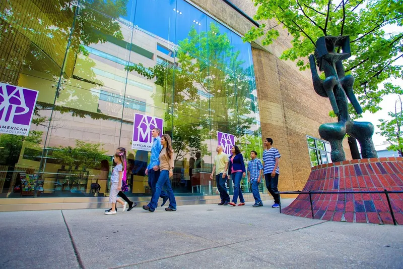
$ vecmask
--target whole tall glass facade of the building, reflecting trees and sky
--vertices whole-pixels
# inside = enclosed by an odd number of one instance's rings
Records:
[[[164,119],[178,195],[216,194],[218,131],[235,136],[245,159],[250,150],[261,156],[250,44],[188,2],[0,5],[0,99],[6,84],[38,91],[29,134],[0,135],[1,197],[108,195],[118,147],[127,149],[126,195],[150,195],[150,154],[131,149],[135,114]],[[250,192],[246,178],[241,185]]]

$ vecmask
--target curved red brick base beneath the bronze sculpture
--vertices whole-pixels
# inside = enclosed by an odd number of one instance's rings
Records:
[[[304,191],[401,191],[403,158],[350,160],[313,167]],[[403,225],[403,193],[389,194],[394,217]],[[385,194],[312,194],[315,219],[393,224]],[[298,197],[282,213],[312,218],[309,194]]]

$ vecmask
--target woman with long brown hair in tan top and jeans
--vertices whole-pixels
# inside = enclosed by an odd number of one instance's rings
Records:
[[[165,208],[165,211],[176,211],[175,195],[173,194],[171,181],[169,180],[169,178],[173,176],[174,169],[171,137],[168,134],[163,134],[161,137],[161,144],[163,148],[159,154],[160,177],[158,178],[155,193],[151,198],[151,202],[148,205],[143,205],[143,209],[150,212],[154,212],[155,208],[157,207],[158,198],[160,197],[163,186],[165,186],[169,197],[169,206]]]

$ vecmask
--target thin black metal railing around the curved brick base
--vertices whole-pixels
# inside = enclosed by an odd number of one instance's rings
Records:
[[[403,191],[388,191],[386,189],[384,189],[383,191],[278,191],[276,192],[279,195],[279,208],[280,208],[280,213],[281,213],[281,194],[309,194],[309,201],[311,204],[311,213],[312,213],[312,219],[314,219],[314,214],[313,214],[313,204],[312,204],[312,194],[356,194],[356,193],[373,193],[373,194],[385,194],[386,199],[387,199],[387,203],[389,205],[389,210],[390,210],[390,215],[392,217],[393,220],[393,224],[397,225],[396,219],[394,218],[394,213],[393,213],[393,208],[392,208],[392,204],[390,203],[390,199],[389,199],[389,194],[394,194],[394,193],[403,193]],[[345,197],[346,200],[346,197]]]

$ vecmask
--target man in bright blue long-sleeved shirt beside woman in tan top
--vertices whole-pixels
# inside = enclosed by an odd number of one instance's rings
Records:
[[[151,158],[150,164],[147,166],[146,175],[148,175],[148,185],[151,188],[151,197],[154,196],[155,188],[157,185],[158,178],[160,177],[160,151],[162,149],[161,145],[161,130],[159,128],[154,128],[151,135],[154,138],[153,145],[151,147]],[[161,206],[163,206],[168,200],[167,193],[163,190],[161,191],[160,197],[163,199]]]

